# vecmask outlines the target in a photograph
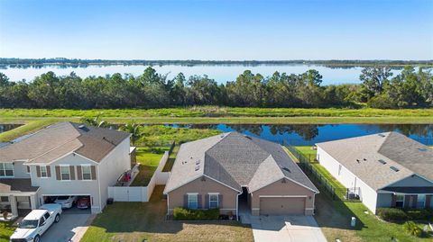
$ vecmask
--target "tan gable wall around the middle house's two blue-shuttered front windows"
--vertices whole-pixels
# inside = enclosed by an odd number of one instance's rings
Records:
[[[205,179],[202,179],[204,177]],[[221,214],[227,214],[232,211],[233,214],[236,213],[236,201],[237,192],[226,185],[219,184],[214,180],[202,176],[198,179],[190,182],[189,184],[184,184],[178,189],[175,189],[168,193],[168,212],[172,213],[174,208],[183,207],[184,205],[184,195],[187,193],[198,193],[201,195],[201,204],[205,204],[206,196],[208,193],[220,193],[223,195],[223,200],[220,203]]]

